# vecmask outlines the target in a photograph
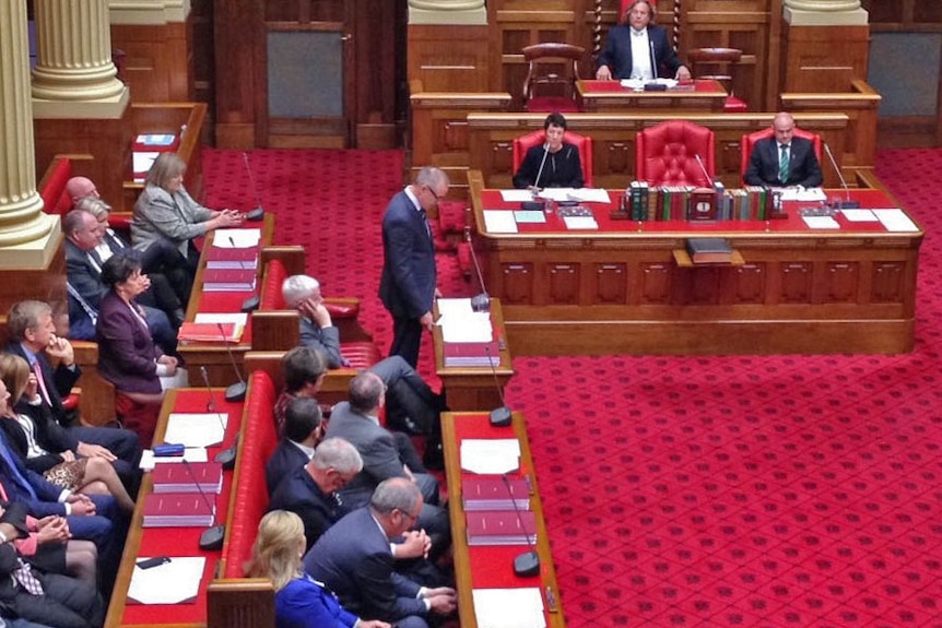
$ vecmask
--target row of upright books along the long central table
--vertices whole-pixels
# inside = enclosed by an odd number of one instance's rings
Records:
[[[647,181],[632,181],[625,190],[624,210],[631,220],[686,221],[690,215],[691,194],[698,188],[693,186],[656,186]],[[726,190],[716,187],[717,221],[764,221],[770,206],[770,191],[763,186],[746,186]]]

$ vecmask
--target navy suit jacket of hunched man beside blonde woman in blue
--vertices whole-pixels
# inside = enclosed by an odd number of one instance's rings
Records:
[[[425,616],[420,585],[393,570],[389,540],[368,508],[354,510],[321,535],[304,556],[304,569],[360,617],[398,621]]]

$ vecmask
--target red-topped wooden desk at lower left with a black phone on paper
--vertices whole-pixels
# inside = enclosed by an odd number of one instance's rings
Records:
[[[227,403],[224,390],[213,390],[219,412],[228,415],[226,434],[223,443],[209,448],[209,459],[220,450],[233,443],[242,425],[240,403]],[[154,433],[154,442],[164,441],[164,433],[167,429],[167,419],[173,412],[207,412],[207,403],[210,393],[205,389],[176,389],[167,391],[157,428]],[[165,463],[170,464],[170,463]],[[223,473],[223,489],[215,498],[216,521],[225,522],[228,512],[229,494],[232,491],[232,471]],[[111,603],[108,606],[108,615],[105,619],[106,628],[119,626],[175,626],[180,628],[204,627],[207,625],[207,585],[213,579],[220,552],[202,552],[199,548],[200,534],[205,528],[143,528],[144,498],[153,491],[153,483],[150,474],[145,474],[138,493],[138,505],[131,518],[128,540],[125,542],[125,553],[121,556],[121,565],[118,568],[118,577],[115,582]],[[127,604],[128,586],[134,571],[134,562],[139,556],[204,556],[207,558],[203,570],[202,582],[197,600],[192,604]]]

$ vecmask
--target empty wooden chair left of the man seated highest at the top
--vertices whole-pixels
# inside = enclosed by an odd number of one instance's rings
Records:
[[[578,111],[576,81],[586,49],[546,42],[523,48],[528,63],[523,103],[528,111]]]

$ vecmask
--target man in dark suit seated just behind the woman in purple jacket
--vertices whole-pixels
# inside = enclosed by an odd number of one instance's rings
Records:
[[[84,200],[80,204],[83,203],[85,203]],[[98,246],[102,244],[102,229],[94,214],[83,210],[72,210],[62,218],[62,230],[66,233],[69,337],[93,341],[97,337],[95,325],[98,321],[102,299],[110,292],[110,287],[102,281],[102,268],[106,261],[98,251]],[[164,308],[169,308],[170,315],[175,318],[181,317],[182,310],[179,309],[180,301],[174,291],[169,285],[162,283],[166,279],[160,274],[157,277],[156,282],[151,280],[151,287],[141,295],[143,297],[141,307],[146,315],[148,329],[154,342],[164,349],[164,353],[173,355],[177,351],[177,333]],[[168,295],[173,297],[170,301],[166,300]],[[175,313],[175,310],[178,312]]]

